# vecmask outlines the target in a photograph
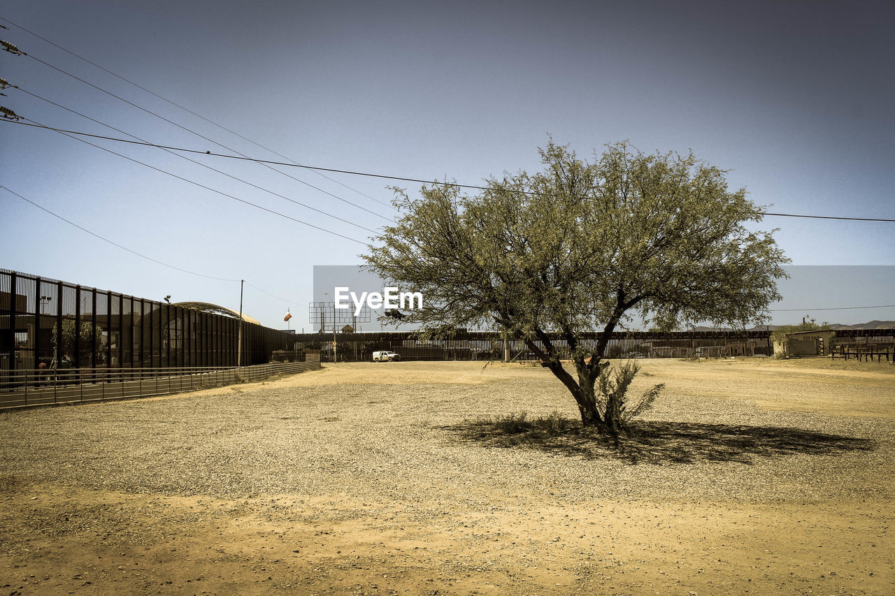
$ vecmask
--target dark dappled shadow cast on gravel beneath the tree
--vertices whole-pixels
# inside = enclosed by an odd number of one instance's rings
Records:
[[[512,416],[512,415],[511,415]],[[698,464],[736,462],[791,455],[835,455],[873,451],[867,438],[844,437],[788,427],[636,421],[618,438],[584,430],[580,422],[550,417],[507,424],[497,420],[465,421],[440,427],[453,438],[487,447],[532,448],[542,452],[611,458],[629,464]]]

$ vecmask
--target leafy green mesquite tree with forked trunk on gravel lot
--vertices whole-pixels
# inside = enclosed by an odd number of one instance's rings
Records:
[[[492,178],[473,196],[427,185],[412,199],[396,189],[401,217],[364,259],[426,296],[405,322],[433,335],[507,330],[568,388],[585,427],[615,433],[624,391],[607,396],[598,382],[612,332],[634,314],[662,329],[761,320],[780,299],[788,259],[773,231],[746,228],[763,214],[745,190],[730,192],[725,171],[692,153],[618,143],[588,163],[552,141],[540,152],[541,172]],[[596,329],[595,342],[583,340]]]

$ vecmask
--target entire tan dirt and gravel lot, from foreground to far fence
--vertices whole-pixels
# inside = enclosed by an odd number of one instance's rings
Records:
[[[0,594],[895,593],[895,367],[641,362],[618,444],[481,362],[0,413]]]

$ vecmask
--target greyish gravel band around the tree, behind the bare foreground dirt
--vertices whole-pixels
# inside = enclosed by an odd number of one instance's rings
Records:
[[[4,413],[0,474],[222,498],[891,498],[891,474],[881,474],[891,472],[895,448],[888,418],[769,411],[670,384],[618,447],[572,432],[506,448],[489,418],[557,411],[575,419],[571,397],[549,374],[499,368],[474,384],[395,386],[376,383],[390,372],[384,366],[343,366],[369,369],[370,383],[340,384],[335,367],[308,373],[320,375],[315,385]],[[785,393],[781,382],[763,399]]]

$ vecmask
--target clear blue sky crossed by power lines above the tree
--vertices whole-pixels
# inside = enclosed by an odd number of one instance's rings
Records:
[[[774,211],[895,217],[891,2],[7,0],[0,17],[305,164],[480,183],[537,169],[548,133],[583,156],[627,139],[646,151],[693,149]],[[9,28],[0,38],[34,58],[276,158],[0,23]],[[230,152],[29,56],[0,52],[0,76],[147,140]],[[4,92],[0,105],[40,123],[122,136]],[[362,242],[371,235],[158,149],[94,142],[314,226]],[[191,157],[358,226],[376,229],[394,213],[380,179],[330,175],[336,183],[284,168],[375,216],[262,166]],[[0,168],[0,184],[116,243],[276,294],[245,294],[245,311],[271,327],[285,327],[287,307],[293,328],[309,327],[312,266],[358,263],[363,251],[55,132],[0,123]],[[0,267],[238,308],[238,283],[142,260],[3,191],[0,214]],[[780,227],[796,265],[895,264],[895,224],[767,217],[763,227]],[[866,298],[828,285],[804,306]],[[817,319],[895,319],[895,309]]]

